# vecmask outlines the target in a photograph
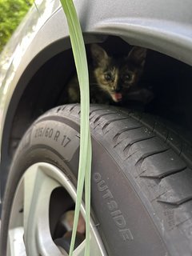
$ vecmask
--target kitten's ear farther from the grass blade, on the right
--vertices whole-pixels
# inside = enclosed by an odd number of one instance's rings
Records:
[[[127,57],[129,61],[134,62],[139,66],[144,66],[146,62],[146,49],[134,46]]]

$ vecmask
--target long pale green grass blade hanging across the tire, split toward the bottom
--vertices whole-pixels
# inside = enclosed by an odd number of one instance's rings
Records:
[[[91,142],[90,142],[90,91],[89,75],[86,61],[86,49],[82,38],[82,30],[78,21],[74,3],[72,0],[61,0],[62,8],[66,14],[70,31],[70,41],[74,53],[74,62],[78,73],[78,81],[81,94],[81,130],[80,130],[80,154],[78,166],[77,201],[74,214],[74,228],[70,244],[70,256],[73,254],[75,235],[78,226],[78,216],[82,203],[82,192],[85,182],[86,193],[86,250],[85,255],[90,255],[90,166],[91,166]],[[86,178],[86,180],[85,180]]]

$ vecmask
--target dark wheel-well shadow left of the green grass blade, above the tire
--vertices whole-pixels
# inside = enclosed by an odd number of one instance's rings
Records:
[[[30,124],[46,110],[58,106],[63,87],[73,73],[73,54],[71,50],[66,50],[51,58],[34,74],[14,114],[10,132],[11,155]]]

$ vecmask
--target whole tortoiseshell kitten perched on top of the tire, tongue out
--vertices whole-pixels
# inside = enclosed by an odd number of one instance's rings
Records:
[[[101,46],[90,46],[93,63],[89,66],[90,102],[110,104],[121,102],[136,86],[146,61],[146,49],[134,46],[128,56],[110,57]],[[66,86],[69,103],[80,101],[78,78],[74,76]]]

